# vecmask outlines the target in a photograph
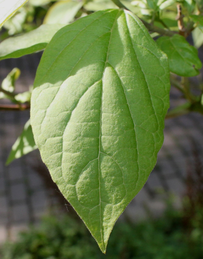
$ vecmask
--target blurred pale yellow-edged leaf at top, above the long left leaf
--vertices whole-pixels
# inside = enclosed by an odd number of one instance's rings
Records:
[[[47,15],[44,18],[44,23],[54,24],[62,23],[68,24],[72,22],[76,13],[82,7],[82,1],[59,1],[51,6]]]

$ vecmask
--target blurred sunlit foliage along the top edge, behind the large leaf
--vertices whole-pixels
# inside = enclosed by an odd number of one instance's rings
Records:
[[[203,43],[202,0],[122,0],[139,18],[160,28],[178,30],[177,4],[181,4],[184,23],[193,29],[194,45]],[[29,0],[4,24],[1,39],[28,32],[41,24],[68,24],[91,12],[118,8],[111,0]],[[199,16],[200,15],[200,16]],[[158,35],[153,33],[152,37]],[[198,37],[198,36],[199,37]]]

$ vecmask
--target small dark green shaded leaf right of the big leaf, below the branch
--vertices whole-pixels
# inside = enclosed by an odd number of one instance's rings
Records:
[[[175,34],[173,37],[162,36],[156,43],[167,54],[170,71],[179,76],[197,76],[202,64],[198,51],[186,39]]]

